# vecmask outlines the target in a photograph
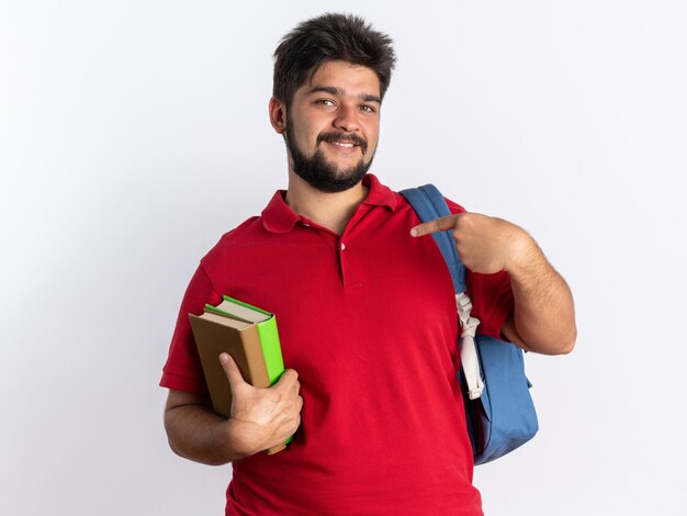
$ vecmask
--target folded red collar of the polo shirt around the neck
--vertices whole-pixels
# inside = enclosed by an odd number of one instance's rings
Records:
[[[396,195],[388,187],[382,184],[372,173],[362,178],[362,184],[368,187],[368,197],[361,204],[373,206],[386,206],[390,210],[396,207]],[[296,222],[302,221],[301,215],[296,214],[289,207],[284,198],[285,190],[278,190],[268,205],[262,210],[262,225],[270,233],[288,233]]]

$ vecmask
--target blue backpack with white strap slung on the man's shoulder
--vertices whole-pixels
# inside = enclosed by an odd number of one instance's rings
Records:
[[[433,184],[403,190],[423,222],[451,215]],[[505,456],[537,434],[539,424],[525,375],[522,349],[477,333],[480,321],[470,316],[472,303],[465,294],[465,267],[461,263],[450,232],[433,233],[451,271],[461,325],[461,371],[468,434],[475,464]]]

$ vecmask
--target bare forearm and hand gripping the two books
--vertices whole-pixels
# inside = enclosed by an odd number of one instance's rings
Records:
[[[232,388],[232,416],[215,414],[196,394],[170,390],[165,408],[169,446],[210,465],[243,459],[283,444],[301,424],[297,373],[288,369],[268,389],[246,383],[228,355],[221,356]]]

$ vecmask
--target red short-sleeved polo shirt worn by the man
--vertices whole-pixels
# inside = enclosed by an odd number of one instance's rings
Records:
[[[277,192],[188,288],[161,385],[204,392],[188,314],[228,294],[277,314],[304,399],[288,451],[233,463],[227,514],[482,514],[449,272],[431,237],[410,236],[419,221],[407,202],[372,175],[364,182],[340,236]],[[497,336],[513,310],[507,276],[469,274],[469,285],[482,330]]]

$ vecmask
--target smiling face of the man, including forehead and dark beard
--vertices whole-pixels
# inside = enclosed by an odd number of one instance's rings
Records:
[[[345,61],[323,65],[295,91],[286,113],[293,171],[325,192],[358,184],[376,150],[380,108],[374,71]]]

